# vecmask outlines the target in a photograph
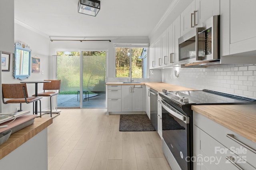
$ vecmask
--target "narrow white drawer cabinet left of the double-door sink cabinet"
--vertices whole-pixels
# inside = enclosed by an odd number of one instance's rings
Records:
[[[108,85],[108,112],[122,111],[121,98],[121,85]]]

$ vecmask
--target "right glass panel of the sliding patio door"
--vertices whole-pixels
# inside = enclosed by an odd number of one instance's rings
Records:
[[[82,51],[82,108],[106,108],[106,51]]]

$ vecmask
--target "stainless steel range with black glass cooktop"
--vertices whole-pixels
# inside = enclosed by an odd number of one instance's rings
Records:
[[[211,90],[159,92],[162,97],[163,151],[172,169],[192,170],[193,112],[191,105],[256,104],[256,99]],[[175,164],[176,163],[176,164]]]

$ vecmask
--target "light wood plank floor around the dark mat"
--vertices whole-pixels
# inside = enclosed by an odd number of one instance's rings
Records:
[[[48,127],[49,170],[170,170],[156,131],[119,132],[106,109],[61,109]]]

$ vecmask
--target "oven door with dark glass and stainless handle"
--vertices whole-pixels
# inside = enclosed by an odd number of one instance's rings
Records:
[[[190,170],[190,117],[180,113],[163,99],[161,105],[163,139],[180,168]]]

